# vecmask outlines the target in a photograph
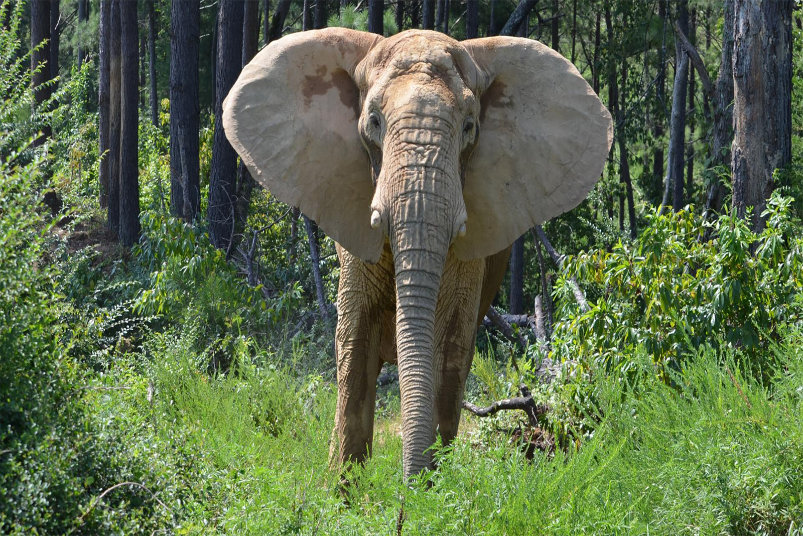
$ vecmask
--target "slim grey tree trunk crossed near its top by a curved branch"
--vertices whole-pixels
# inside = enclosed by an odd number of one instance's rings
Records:
[[[680,0],[678,2],[678,26],[684,35],[689,35],[689,11],[688,0]],[[688,84],[688,58],[682,61],[681,58],[686,55],[680,47],[675,47],[675,89],[672,95],[672,132],[671,136],[675,142],[674,154],[670,165],[672,168],[672,181],[674,187],[674,196],[672,197],[672,209],[678,212],[683,209],[683,148],[686,144],[686,90]],[[675,115],[675,100],[678,100],[677,115]]]

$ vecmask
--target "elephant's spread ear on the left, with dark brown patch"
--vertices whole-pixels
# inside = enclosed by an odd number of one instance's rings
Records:
[[[357,130],[357,63],[381,36],[344,28],[288,35],[243,68],[223,128],[259,184],[296,205],[346,250],[378,260],[369,158]]]

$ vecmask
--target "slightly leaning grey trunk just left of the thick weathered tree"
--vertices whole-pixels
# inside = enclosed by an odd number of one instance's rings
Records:
[[[731,144],[733,142],[733,23],[734,0],[724,2],[722,29],[722,55],[719,75],[715,83],[714,142],[711,149],[711,167],[727,166],[731,170]],[[706,215],[719,212],[725,197],[725,186],[714,173],[714,182],[709,186]],[[730,176],[731,173],[728,173]]]

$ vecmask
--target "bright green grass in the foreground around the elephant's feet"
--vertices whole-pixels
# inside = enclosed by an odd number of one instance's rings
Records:
[[[601,422],[568,454],[527,461],[472,417],[438,452],[431,489],[402,481],[399,416],[385,411],[350,506],[328,465],[335,389],[275,355],[241,341],[238,374],[214,379],[197,372],[203,356],[159,335],[149,359],[107,376],[129,388],[95,392],[161,468],[153,491],[178,534],[397,534],[402,504],[402,534],[801,534],[801,340],[778,349],[771,389],[711,352],[676,388],[651,373],[638,395],[599,380]]]

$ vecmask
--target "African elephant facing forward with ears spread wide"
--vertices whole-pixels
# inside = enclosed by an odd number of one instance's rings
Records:
[[[531,39],[328,28],[263,48],[222,124],[251,176],[336,242],[341,467],[371,453],[385,362],[398,366],[404,476],[430,468],[436,435],[458,432],[512,242],[585,199],[609,112]]]

